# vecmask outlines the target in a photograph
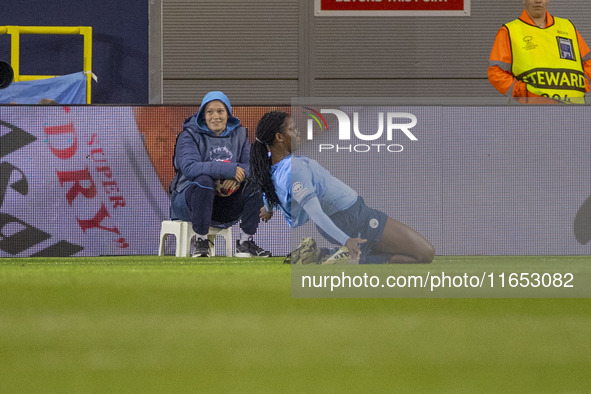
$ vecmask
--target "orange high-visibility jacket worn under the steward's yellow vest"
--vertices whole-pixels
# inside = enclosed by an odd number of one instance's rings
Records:
[[[523,13],[519,17],[521,22],[528,25],[534,26],[534,22],[531,20],[527,11],[523,10]],[[546,12],[546,29],[554,25],[554,18],[550,13]],[[535,29],[539,29],[535,27]],[[542,29],[540,29],[542,30]],[[535,31],[535,30],[534,30]],[[589,79],[591,78],[591,51],[583,40],[583,37],[576,31],[577,43],[580,61],[582,62],[583,71],[586,75],[585,80],[585,92],[589,91]],[[535,40],[535,37],[534,37]],[[556,44],[558,48],[558,43]],[[556,53],[558,51],[556,50]],[[557,55],[558,56],[558,55]],[[508,97],[540,97],[540,95],[533,92],[537,91],[530,85],[528,89],[527,83],[518,80],[516,75],[513,74],[513,52],[511,48],[511,38],[509,35],[509,29],[506,25],[503,25],[495,37],[495,42],[489,58],[488,67],[488,80],[490,83],[502,94]]]

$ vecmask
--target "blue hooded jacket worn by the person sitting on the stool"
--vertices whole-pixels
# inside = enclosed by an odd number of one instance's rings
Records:
[[[205,107],[219,100],[228,110],[226,129],[215,135],[205,122]],[[183,131],[178,135],[173,164],[176,175],[170,185],[171,192],[182,192],[199,175],[213,179],[233,179],[236,167],[249,174],[250,143],[246,129],[232,115],[230,100],[222,92],[209,92],[203,97],[199,111],[185,119]]]

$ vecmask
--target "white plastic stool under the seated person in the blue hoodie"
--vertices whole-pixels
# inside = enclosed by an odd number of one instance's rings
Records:
[[[164,256],[164,243],[169,234],[174,234],[176,237],[176,257],[189,257],[191,252],[191,239],[196,235],[191,226],[191,222],[183,222],[180,220],[165,220],[160,227],[160,247],[158,248],[158,256]],[[232,256],[232,228],[217,228],[210,227],[207,233],[207,238],[213,243],[215,236],[221,235],[226,240],[226,256]],[[211,244],[209,247],[209,255],[215,256],[215,246]]]

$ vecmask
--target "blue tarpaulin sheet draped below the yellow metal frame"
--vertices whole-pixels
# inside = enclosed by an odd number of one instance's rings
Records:
[[[13,82],[0,90],[0,104],[37,104],[52,99],[58,104],[86,104],[86,75],[83,72],[35,81]]]

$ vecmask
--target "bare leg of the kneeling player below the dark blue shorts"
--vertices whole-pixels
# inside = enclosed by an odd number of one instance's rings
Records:
[[[435,249],[421,234],[404,223],[388,218],[382,238],[373,252],[392,255],[390,263],[430,263]]]

